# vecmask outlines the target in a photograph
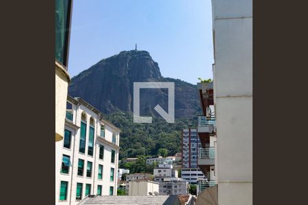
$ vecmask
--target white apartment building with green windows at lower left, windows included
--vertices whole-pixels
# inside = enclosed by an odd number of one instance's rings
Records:
[[[120,129],[82,98],[67,102],[64,139],[55,143],[55,204],[116,195]]]

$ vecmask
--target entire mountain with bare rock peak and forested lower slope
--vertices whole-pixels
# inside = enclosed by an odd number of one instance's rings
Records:
[[[133,123],[133,82],[175,82],[175,123],[154,110],[159,104],[168,111],[167,89],[141,89],[140,115],[152,116],[153,123]],[[84,98],[121,129],[120,159],[155,155],[159,148],[170,155],[181,152],[181,129],[196,126],[201,113],[196,85],[162,77],[147,51],[122,51],[102,59],[73,77],[68,94]]]

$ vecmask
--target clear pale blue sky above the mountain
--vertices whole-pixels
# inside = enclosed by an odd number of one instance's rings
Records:
[[[209,0],[74,0],[68,72],[135,49],[149,51],[164,77],[212,78]]]

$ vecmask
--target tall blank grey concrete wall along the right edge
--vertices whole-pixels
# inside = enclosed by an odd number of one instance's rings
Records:
[[[252,3],[212,1],[220,205],[253,204]]]

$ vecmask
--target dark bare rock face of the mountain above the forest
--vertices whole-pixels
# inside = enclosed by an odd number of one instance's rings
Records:
[[[103,113],[133,111],[133,82],[175,82],[175,117],[194,117],[199,109],[196,85],[164,78],[147,51],[122,51],[102,59],[73,77],[68,94],[84,98]],[[159,104],[168,111],[167,89],[140,90],[140,115],[158,115]]]

